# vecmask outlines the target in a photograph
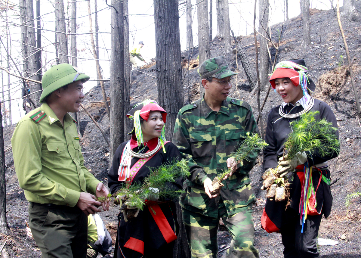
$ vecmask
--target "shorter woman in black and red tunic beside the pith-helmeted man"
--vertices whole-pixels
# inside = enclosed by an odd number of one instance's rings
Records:
[[[112,194],[134,182],[143,183],[151,172],[149,168],[180,160],[178,148],[164,140],[166,112],[156,102],[144,100],[135,104],[127,117],[134,119],[135,126],[129,133],[131,140],[123,142],[114,154],[108,173]],[[182,183],[183,179],[179,178],[168,186],[178,190],[182,189]],[[156,199],[146,202],[148,205],[135,218],[127,220],[122,212],[118,214],[114,258],[173,257],[178,232],[175,203],[165,199],[155,202]]]

